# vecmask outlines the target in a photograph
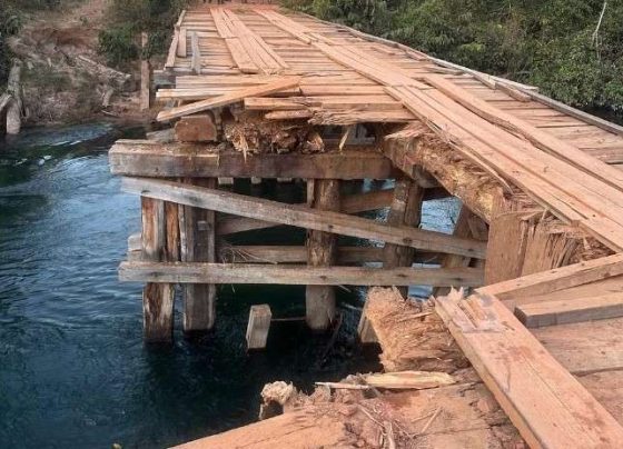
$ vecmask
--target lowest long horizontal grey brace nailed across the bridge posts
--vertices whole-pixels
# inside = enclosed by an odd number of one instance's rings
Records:
[[[287,286],[464,286],[482,285],[477,268],[305,267],[255,263],[166,263],[126,261],[119,279],[128,282],[253,283]]]

